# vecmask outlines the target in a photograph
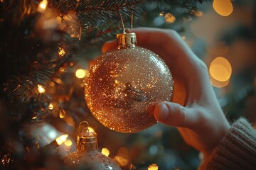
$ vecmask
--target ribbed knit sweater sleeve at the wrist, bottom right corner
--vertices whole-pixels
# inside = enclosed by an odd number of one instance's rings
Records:
[[[256,169],[256,131],[245,118],[231,126],[199,169]]]

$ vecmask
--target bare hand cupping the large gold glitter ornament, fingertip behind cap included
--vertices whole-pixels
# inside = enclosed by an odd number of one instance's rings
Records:
[[[178,127],[183,139],[205,157],[230,128],[210,85],[208,69],[174,30],[137,28],[137,42],[158,54],[174,77],[174,98],[156,105],[154,117]],[[107,42],[102,52],[114,48]]]

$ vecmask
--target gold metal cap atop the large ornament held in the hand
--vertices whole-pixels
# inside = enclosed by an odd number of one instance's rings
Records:
[[[135,33],[127,33],[124,29],[124,33],[117,34],[117,49],[136,47],[137,38]]]

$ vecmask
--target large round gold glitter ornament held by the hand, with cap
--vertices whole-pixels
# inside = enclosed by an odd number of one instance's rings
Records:
[[[164,60],[136,45],[135,33],[117,34],[117,50],[98,57],[85,80],[92,115],[118,132],[154,125],[154,106],[173,96],[174,81]]]

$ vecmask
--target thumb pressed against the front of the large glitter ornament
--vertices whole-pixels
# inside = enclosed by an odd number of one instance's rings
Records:
[[[191,127],[188,120],[189,108],[183,107],[178,103],[161,102],[154,109],[154,117],[161,123],[182,128]]]

